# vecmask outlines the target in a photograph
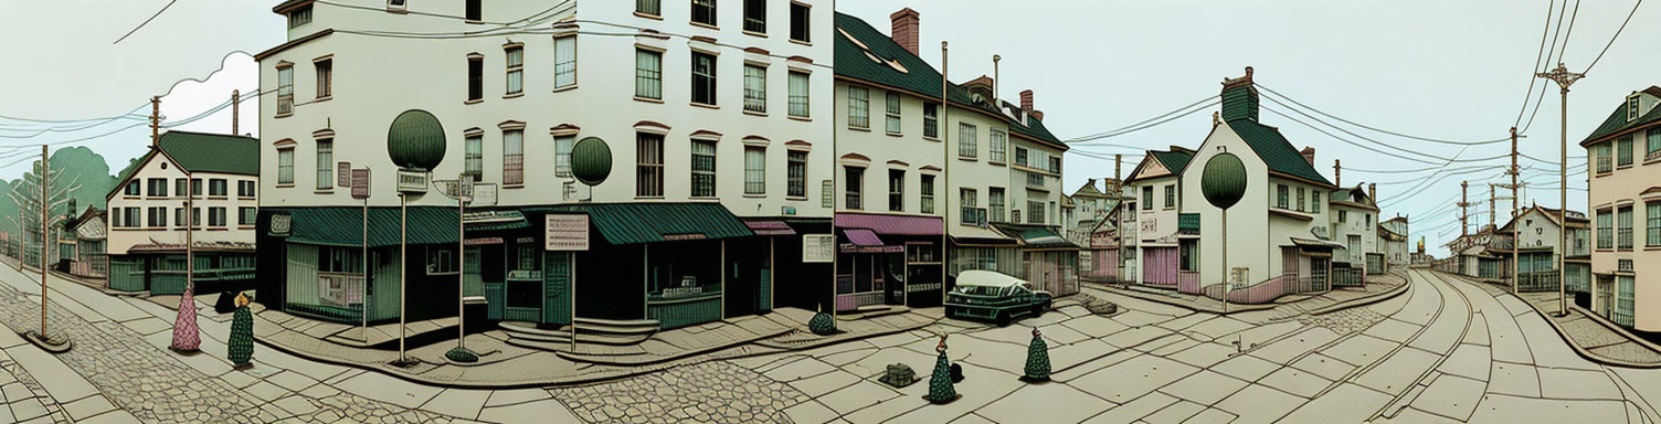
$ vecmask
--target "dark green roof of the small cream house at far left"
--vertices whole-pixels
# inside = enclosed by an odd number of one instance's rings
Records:
[[[159,145],[186,171],[259,175],[257,138],[166,131]]]

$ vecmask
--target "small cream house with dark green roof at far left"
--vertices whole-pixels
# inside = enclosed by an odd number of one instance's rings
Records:
[[[184,293],[186,238],[196,293],[252,288],[259,145],[236,135],[161,133],[105,196],[110,289]],[[189,218],[186,205],[194,208]]]

